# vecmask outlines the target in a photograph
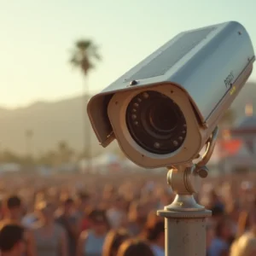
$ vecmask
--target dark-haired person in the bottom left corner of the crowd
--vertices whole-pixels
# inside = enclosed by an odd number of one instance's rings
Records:
[[[22,256],[25,253],[25,230],[19,224],[4,224],[0,230],[1,256]]]

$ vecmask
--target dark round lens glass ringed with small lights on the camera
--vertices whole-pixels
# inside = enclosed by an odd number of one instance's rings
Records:
[[[131,137],[154,154],[175,152],[187,135],[186,120],[171,98],[154,90],[135,96],[126,110]]]

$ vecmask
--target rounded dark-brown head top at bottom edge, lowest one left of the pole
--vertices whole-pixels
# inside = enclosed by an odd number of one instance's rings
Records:
[[[153,251],[146,241],[130,239],[122,243],[117,256],[154,256]]]

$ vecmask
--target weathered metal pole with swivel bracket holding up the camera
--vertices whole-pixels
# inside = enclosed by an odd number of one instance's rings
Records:
[[[166,256],[206,256],[206,218],[211,211],[197,204],[193,194],[200,189],[201,178],[207,177],[205,166],[212,155],[218,128],[207,141],[207,150],[196,165],[173,167],[167,174],[167,183],[176,197],[171,205],[157,214],[166,222]]]

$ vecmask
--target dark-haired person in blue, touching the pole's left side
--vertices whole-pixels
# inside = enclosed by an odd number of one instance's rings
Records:
[[[148,225],[145,230],[146,239],[154,253],[154,256],[165,256],[165,222],[157,221]]]

